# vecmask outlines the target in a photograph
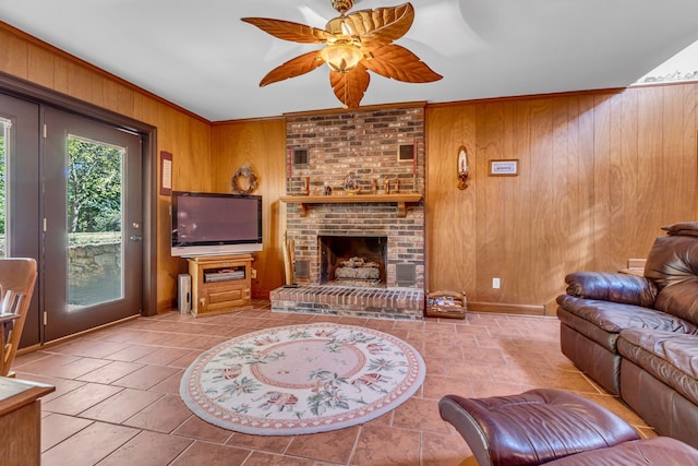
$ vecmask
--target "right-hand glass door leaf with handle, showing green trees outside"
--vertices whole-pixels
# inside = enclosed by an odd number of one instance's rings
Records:
[[[141,138],[44,110],[45,340],[141,311]]]

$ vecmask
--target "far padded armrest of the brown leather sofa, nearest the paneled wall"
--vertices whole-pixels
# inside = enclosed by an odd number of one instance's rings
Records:
[[[652,308],[657,298],[653,282],[613,272],[575,272],[565,277],[567,295],[585,299]]]

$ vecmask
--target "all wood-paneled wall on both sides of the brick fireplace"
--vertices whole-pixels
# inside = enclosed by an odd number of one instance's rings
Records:
[[[284,283],[285,122],[210,122],[0,23],[0,71],[157,127],[177,190],[230,191],[249,163],[265,199],[253,288]],[[697,215],[696,84],[426,106],[429,289],[465,289],[471,310],[554,312],[565,274],[643,258],[660,227]],[[466,145],[471,175],[456,188]],[[492,159],[519,160],[490,177]],[[185,261],[169,254],[158,196],[158,308]],[[501,288],[492,288],[492,278]]]

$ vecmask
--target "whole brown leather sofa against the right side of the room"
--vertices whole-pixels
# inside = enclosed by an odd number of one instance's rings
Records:
[[[641,277],[565,277],[561,347],[660,434],[698,447],[698,223],[663,229]]]

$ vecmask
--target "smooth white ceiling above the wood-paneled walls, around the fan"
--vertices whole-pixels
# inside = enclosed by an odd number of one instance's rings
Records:
[[[352,11],[405,0],[356,0]],[[443,80],[372,74],[362,105],[624,87],[698,39],[696,0],[412,0],[397,44]],[[240,21],[324,27],[330,0],[0,0],[0,20],[210,121],[338,108],[326,67],[258,87],[316,46]],[[1,45],[0,45],[1,46]]]

